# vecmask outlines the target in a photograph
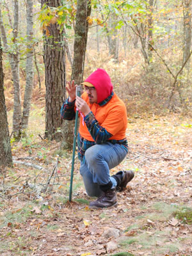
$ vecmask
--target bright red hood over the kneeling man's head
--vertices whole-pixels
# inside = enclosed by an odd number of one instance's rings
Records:
[[[102,68],[98,68],[95,72],[90,74],[85,82],[93,84],[97,90],[97,103],[100,103],[108,98],[113,91],[113,84],[111,84],[111,79],[106,70]]]

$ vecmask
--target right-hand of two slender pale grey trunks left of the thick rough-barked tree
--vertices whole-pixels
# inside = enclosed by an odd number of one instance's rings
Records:
[[[22,131],[28,128],[31,95],[33,90],[33,0],[26,1],[27,20],[27,54],[26,54],[26,88],[22,111]]]

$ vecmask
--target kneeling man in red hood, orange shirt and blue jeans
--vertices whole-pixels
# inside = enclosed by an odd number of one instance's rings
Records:
[[[128,152],[127,111],[113,92],[104,69],[98,68],[82,84],[85,92],[78,97],[74,81],[68,83],[68,99],[61,108],[61,118],[72,120],[76,108],[80,112],[77,136],[80,173],[88,196],[98,197],[90,202],[90,208],[116,206],[116,191],[122,191],[134,177],[132,171],[120,171],[113,176],[109,173]]]

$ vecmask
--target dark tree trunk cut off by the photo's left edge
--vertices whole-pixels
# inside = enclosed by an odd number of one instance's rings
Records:
[[[11,164],[12,150],[10,144],[6,106],[4,100],[2,48],[0,37],[0,166],[8,166]]]

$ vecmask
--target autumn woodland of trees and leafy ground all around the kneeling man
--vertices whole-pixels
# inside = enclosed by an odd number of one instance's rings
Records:
[[[191,237],[190,0],[0,2],[1,255],[185,255]],[[127,106],[136,177],[90,211],[66,81],[104,68]],[[113,230],[111,231],[112,228]]]

